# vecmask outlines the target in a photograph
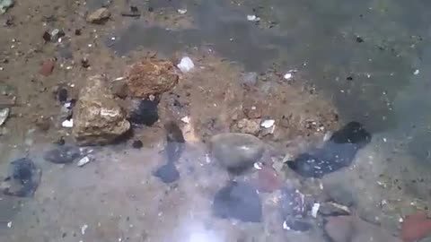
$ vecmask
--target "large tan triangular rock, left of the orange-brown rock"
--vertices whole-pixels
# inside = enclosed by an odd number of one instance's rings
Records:
[[[74,109],[72,134],[81,145],[107,144],[126,134],[130,123],[101,75],[90,77]]]

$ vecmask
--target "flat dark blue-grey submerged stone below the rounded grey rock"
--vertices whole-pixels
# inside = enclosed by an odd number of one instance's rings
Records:
[[[244,222],[262,220],[262,204],[256,189],[240,182],[230,182],[220,189],[213,202],[213,214],[222,219]]]

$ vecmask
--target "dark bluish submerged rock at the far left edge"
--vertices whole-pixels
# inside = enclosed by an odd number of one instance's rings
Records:
[[[29,197],[34,194],[40,183],[41,170],[32,160],[22,158],[9,164],[9,177],[5,179],[7,187],[3,193],[19,197]]]

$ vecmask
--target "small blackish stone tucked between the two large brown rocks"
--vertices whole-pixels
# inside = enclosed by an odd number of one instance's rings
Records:
[[[157,101],[141,100],[130,114],[129,121],[138,125],[154,125],[159,120]]]

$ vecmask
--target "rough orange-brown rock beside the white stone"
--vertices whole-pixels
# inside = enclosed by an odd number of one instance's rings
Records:
[[[131,65],[126,76],[130,94],[136,98],[170,91],[179,79],[172,62],[156,59]]]

